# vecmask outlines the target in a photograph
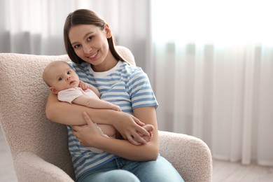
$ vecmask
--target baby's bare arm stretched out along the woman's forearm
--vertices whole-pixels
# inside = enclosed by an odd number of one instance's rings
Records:
[[[101,99],[87,97],[84,94],[80,95],[80,97],[77,97],[76,99],[73,99],[72,103],[94,109],[113,109],[116,111],[121,111],[120,106],[117,106],[116,104],[112,104],[111,102],[106,102]]]

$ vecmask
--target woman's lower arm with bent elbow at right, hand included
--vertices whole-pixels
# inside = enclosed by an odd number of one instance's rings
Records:
[[[153,139],[141,146],[135,146],[126,140],[102,137],[94,129],[94,126],[92,125],[92,122],[88,116],[84,117],[88,123],[88,127],[73,127],[73,134],[83,146],[93,146],[129,160],[155,160],[158,158],[159,152],[158,125],[155,108],[151,106],[135,109],[134,116],[142,120],[144,123],[151,124],[155,127],[155,130],[153,131]]]

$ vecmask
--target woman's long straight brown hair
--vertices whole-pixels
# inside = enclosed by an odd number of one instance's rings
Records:
[[[102,20],[102,18],[100,18],[99,15],[92,10],[79,9],[75,10],[73,13],[69,13],[64,23],[64,46],[67,55],[69,55],[72,62],[80,64],[85,61],[76,55],[73,47],[71,46],[69,40],[70,28],[76,25],[94,25],[104,30],[105,24],[106,22],[104,22],[104,20]],[[107,38],[107,41],[109,43],[109,50],[111,51],[113,57],[115,57],[117,60],[125,61],[125,59],[123,59],[123,57],[121,57],[115,49],[113,36],[111,36],[111,38]]]

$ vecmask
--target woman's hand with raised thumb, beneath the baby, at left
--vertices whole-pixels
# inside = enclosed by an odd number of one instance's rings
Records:
[[[94,142],[102,137],[99,131],[94,126],[91,118],[86,112],[83,112],[83,118],[85,119],[87,125],[83,126],[71,126],[73,135],[77,138],[82,146],[94,146]]]

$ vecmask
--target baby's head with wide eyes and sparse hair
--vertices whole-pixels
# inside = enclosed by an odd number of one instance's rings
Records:
[[[71,87],[78,87],[78,74],[63,61],[50,62],[43,70],[43,81],[53,94]]]

